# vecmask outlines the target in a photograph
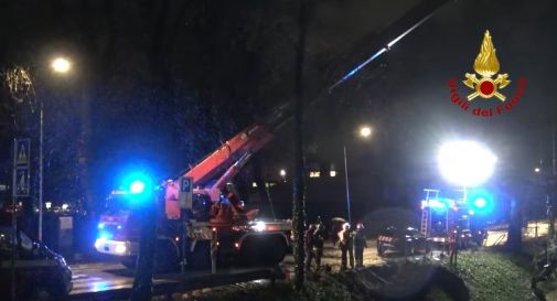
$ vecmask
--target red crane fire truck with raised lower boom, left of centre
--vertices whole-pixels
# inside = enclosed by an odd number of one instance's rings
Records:
[[[156,269],[171,270],[181,264],[203,268],[211,266],[214,257],[227,265],[282,261],[291,249],[291,221],[258,218],[258,209],[244,207],[232,180],[289,118],[285,111],[288,107],[278,109],[267,122],[242,130],[181,176],[160,186],[163,214],[157,225]],[[193,187],[186,204],[181,204],[182,179],[191,181]],[[130,198],[141,185],[136,182],[129,190],[108,196],[95,241],[98,252],[119,257],[129,268],[136,264],[141,224]]]

